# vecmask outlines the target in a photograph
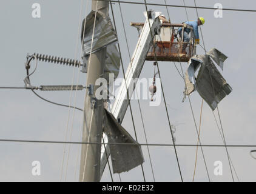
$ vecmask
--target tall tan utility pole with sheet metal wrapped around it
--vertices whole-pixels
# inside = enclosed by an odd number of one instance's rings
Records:
[[[108,7],[108,1],[92,1],[92,10]],[[108,9],[107,9],[108,12]],[[92,53],[87,65],[87,89],[84,102],[83,142],[101,143],[103,123],[103,99],[96,99],[96,79],[103,78],[106,47]],[[79,181],[100,181],[101,144],[82,144]]]

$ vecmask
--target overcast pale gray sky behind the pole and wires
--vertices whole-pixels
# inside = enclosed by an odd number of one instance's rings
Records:
[[[41,18],[32,18],[32,4],[41,4]],[[80,21],[87,15],[86,0],[83,3],[83,17],[79,18],[81,1],[64,0],[38,0],[38,1],[1,1],[0,2],[0,85],[23,86],[25,78],[25,56],[27,53],[44,53],[48,55],[64,56],[66,58],[80,59],[81,41]],[[141,2],[143,2],[141,0]],[[147,2],[164,4],[163,0]],[[186,0],[186,5],[194,6],[194,1]],[[221,3],[226,8],[255,9],[254,1],[203,1],[197,0],[198,6],[214,7]],[[182,0],[170,1],[167,4],[183,5]],[[138,40],[138,32],[130,27],[130,22],[144,22],[144,5],[121,4],[124,25],[130,52],[133,52]],[[167,16],[166,7],[149,6]],[[129,64],[124,31],[121,23],[118,4],[113,5],[118,38],[125,69]],[[170,19],[174,23],[186,21],[184,8],[169,7]],[[90,1],[89,7],[90,10]],[[187,9],[189,20],[197,18],[195,9]],[[223,18],[215,18],[214,10],[198,9],[200,16],[206,19],[202,27],[206,49],[212,47],[219,49],[229,58],[224,62],[224,71],[221,72],[233,91],[219,104],[221,121],[227,144],[256,144],[255,129],[255,81],[254,72],[256,43],[256,27],[252,21],[255,13],[223,11]],[[200,34],[201,39],[201,34]],[[202,41],[201,41],[202,43]],[[77,53],[77,54],[76,54]],[[198,54],[203,50],[198,47]],[[177,126],[175,137],[177,144],[196,144],[197,133],[190,111],[189,102],[183,98],[184,82],[178,75],[172,62],[160,62],[160,73],[164,92],[169,104],[169,116],[173,125]],[[183,63],[183,69],[186,63]],[[85,84],[86,74],[75,69],[57,64],[39,62],[36,73],[31,80],[33,85],[47,84]],[[79,73],[79,74],[78,74]],[[120,72],[120,77],[123,73]],[[153,63],[145,62],[141,78],[152,78]],[[38,92],[43,97],[55,102],[69,104],[70,92]],[[64,141],[66,129],[68,139],[72,131],[72,141],[81,141],[81,112],[59,107],[42,101],[29,90],[0,90],[0,138],[1,139],[36,139],[49,141]],[[197,125],[199,125],[201,97],[197,92],[191,96],[192,106]],[[72,104],[83,107],[84,92],[72,93]],[[149,100],[141,100],[141,109],[146,127],[149,143],[171,143],[169,125],[164,109],[163,99],[158,107],[150,107]],[[138,141],[145,143],[143,127],[138,109],[138,102],[131,101],[133,116],[135,118]],[[217,115],[217,112],[215,112]],[[218,118],[218,117],[217,117]],[[69,120],[68,127],[67,121]],[[123,121],[123,126],[134,136],[129,110]],[[204,103],[201,125],[202,144],[223,144],[210,107]],[[63,158],[62,144],[35,144],[18,142],[0,142],[0,181],[59,181],[61,177],[61,164]],[[66,146],[66,149],[69,145]],[[67,150],[62,179],[78,181],[79,165],[76,166],[79,146],[70,147],[69,162],[67,166]],[[226,150],[224,148],[204,147],[204,155],[211,181],[231,181]],[[241,181],[256,181],[256,161],[249,155],[249,148],[229,148],[232,162]],[[184,181],[192,181],[195,164],[195,147],[177,147],[178,158]],[[150,170],[149,156],[143,146],[145,162],[143,164],[146,181],[153,181]],[[78,161],[79,161],[78,155]],[[153,172],[156,181],[180,181],[177,161],[172,147],[150,147]],[[41,176],[33,176],[32,161],[41,162]],[[214,175],[214,161],[223,162],[223,176]],[[79,162],[78,162],[79,164]],[[67,166],[67,173],[66,173]],[[119,181],[118,175],[113,176]],[[121,173],[122,181],[143,181],[141,168],[137,167],[130,172]],[[235,178],[236,180],[236,178]],[[109,171],[106,169],[102,181],[111,181]],[[206,170],[200,150],[198,150],[198,164],[195,181],[207,181]]]

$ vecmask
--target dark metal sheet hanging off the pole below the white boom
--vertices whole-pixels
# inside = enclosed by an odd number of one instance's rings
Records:
[[[116,121],[112,113],[104,109],[104,126],[110,143],[132,143],[136,145],[110,144],[113,173],[127,172],[144,162],[141,146]]]

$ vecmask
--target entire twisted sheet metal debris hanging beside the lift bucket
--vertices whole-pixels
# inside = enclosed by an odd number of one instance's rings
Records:
[[[211,49],[206,55],[193,56],[185,74],[185,93],[190,95],[194,90],[197,90],[211,109],[215,110],[218,102],[229,95],[232,88],[227,84],[211,58],[223,70],[223,62],[227,59],[227,56],[217,49]],[[197,78],[195,78],[195,72],[199,67]]]

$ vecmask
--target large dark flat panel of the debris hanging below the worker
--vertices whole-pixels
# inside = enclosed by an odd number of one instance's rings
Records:
[[[218,102],[232,92],[232,88],[215,67],[209,55],[204,55],[197,76],[196,88],[200,96],[215,110]]]

